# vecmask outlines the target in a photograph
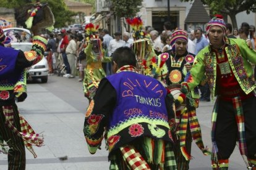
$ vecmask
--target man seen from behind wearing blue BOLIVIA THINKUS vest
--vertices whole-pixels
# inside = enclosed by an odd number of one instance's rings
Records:
[[[116,74],[101,80],[85,115],[88,149],[94,154],[105,137],[109,169],[176,169],[168,123],[174,121],[173,102],[136,64],[129,47],[113,53]]]

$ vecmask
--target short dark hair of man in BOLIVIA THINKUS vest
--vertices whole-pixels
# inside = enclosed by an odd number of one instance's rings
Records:
[[[137,60],[135,53],[129,47],[119,47],[114,51],[112,57],[112,60],[116,62],[118,68],[121,68],[124,65],[132,65],[136,67]]]

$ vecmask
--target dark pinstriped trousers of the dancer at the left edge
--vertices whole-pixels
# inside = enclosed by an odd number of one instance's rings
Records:
[[[12,107],[14,110],[14,126],[20,131],[20,118],[17,105],[14,103]],[[8,170],[25,169],[26,156],[23,139],[6,126],[2,106],[0,106],[0,134],[10,148],[8,152]]]

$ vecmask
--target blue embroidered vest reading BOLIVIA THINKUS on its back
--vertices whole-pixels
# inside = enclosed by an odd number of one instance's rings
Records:
[[[109,152],[142,136],[171,141],[166,89],[159,81],[131,71],[107,79],[117,94],[116,107],[109,116]]]

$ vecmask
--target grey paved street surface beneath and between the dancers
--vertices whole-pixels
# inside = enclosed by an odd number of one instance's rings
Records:
[[[197,109],[203,142],[208,148],[211,148],[210,120],[213,104],[203,102]],[[34,147],[38,155],[36,159],[27,150],[28,170],[109,169],[105,147],[95,155],[88,152],[83,136],[87,106],[88,100],[83,97],[82,83],[78,78],[68,79],[54,75],[48,77],[48,83],[35,81],[28,84],[28,97],[25,102],[18,103],[18,107],[33,129],[38,133],[43,132],[45,140],[43,147]],[[204,156],[194,143],[192,156],[190,169],[211,169],[210,156]],[[62,157],[64,160],[59,159]],[[229,169],[246,169],[238,148],[234,150],[229,165]],[[7,155],[0,154],[0,169],[7,169]]]

